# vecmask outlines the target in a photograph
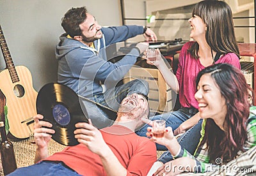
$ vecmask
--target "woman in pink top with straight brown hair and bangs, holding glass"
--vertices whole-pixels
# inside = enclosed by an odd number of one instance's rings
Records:
[[[147,61],[148,64],[154,64],[158,68],[166,83],[179,94],[181,105],[179,110],[151,118],[151,120],[166,119],[166,126],[171,126],[175,135],[184,133],[200,121],[198,103],[194,97],[195,78],[198,72],[212,64],[224,62],[240,69],[232,11],[227,3],[214,0],[201,1],[196,4],[188,22],[191,25],[190,38],[194,41],[189,41],[182,47],[176,75],[166,66],[158,49],[157,60]],[[147,59],[145,55],[143,57]],[[200,124],[198,126],[200,127]],[[147,127],[148,125],[145,125],[136,133],[146,136]],[[200,129],[198,140],[199,131]],[[196,145],[197,143],[189,147],[194,149]],[[165,148],[157,145],[157,149]],[[189,152],[193,153],[193,151]]]

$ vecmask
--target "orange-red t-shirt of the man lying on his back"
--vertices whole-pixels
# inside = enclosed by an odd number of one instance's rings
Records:
[[[156,161],[154,142],[120,125],[100,129],[100,132],[118,161],[127,168],[127,175],[147,175]],[[44,160],[63,161],[81,175],[106,175],[99,156],[81,143],[65,147]]]

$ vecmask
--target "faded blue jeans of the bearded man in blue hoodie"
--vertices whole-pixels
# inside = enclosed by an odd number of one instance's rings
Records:
[[[120,103],[127,95],[138,93],[147,96],[148,90],[147,81],[136,79],[131,82],[127,82],[124,85],[108,89],[102,94],[94,95],[93,101],[116,110],[117,112]],[[80,100],[80,105],[86,117],[91,119],[93,125],[99,129],[111,126],[116,119],[115,112],[108,110],[107,108],[102,108],[90,101]]]

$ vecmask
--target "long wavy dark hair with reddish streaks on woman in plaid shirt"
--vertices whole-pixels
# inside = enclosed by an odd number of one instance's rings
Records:
[[[207,119],[205,135],[200,143],[207,144],[211,163],[216,158],[224,163],[234,159],[247,138],[246,122],[250,114],[248,95],[250,86],[246,84],[243,73],[230,64],[214,64],[200,71],[196,77],[196,86],[204,74],[211,74],[221,96],[225,98],[227,115],[224,121],[225,131],[222,131],[212,119]]]

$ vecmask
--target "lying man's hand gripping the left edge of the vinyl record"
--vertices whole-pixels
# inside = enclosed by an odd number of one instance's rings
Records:
[[[41,121],[44,119],[43,115],[37,114],[33,117],[34,119],[34,138],[37,147],[44,148],[47,147],[47,143],[51,140],[52,134],[55,133],[54,129],[49,129],[52,127],[50,122]]]

